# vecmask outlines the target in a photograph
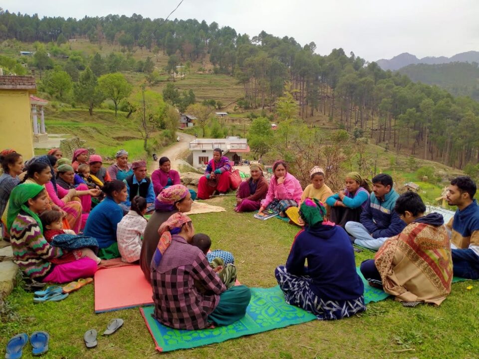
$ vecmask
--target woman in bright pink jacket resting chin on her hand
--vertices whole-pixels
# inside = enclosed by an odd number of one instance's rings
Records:
[[[261,201],[259,213],[265,209],[271,209],[279,212],[281,217],[285,217],[285,210],[291,206],[297,207],[302,194],[301,184],[288,173],[286,163],[281,160],[276,161],[273,164],[273,177],[269,182],[268,193]]]

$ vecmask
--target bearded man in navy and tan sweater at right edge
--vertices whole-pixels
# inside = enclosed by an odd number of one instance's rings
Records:
[[[454,275],[479,279],[479,207],[474,195],[476,183],[460,176],[451,181],[447,200],[458,210],[446,225],[451,233]]]

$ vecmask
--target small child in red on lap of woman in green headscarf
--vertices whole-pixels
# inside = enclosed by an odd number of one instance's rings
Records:
[[[51,243],[53,240],[55,240],[57,243],[53,243],[53,245],[69,251],[69,253],[66,253],[65,256],[57,259],[58,263],[55,261],[52,262],[60,264],[72,261],[74,259],[88,257],[93,259],[97,264],[100,264],[101,259],[98,258],[90,248],[88,248],[88,246],[94,245],[96,240],[91,237],[76,235],[71,229],[63,229],[61,218],[62,213],[60,211],[46,210],[40,214],[40,220],[43,226],[43,236],[45,237],[46,241]],[[73,241],[84,242],[85,248],[67,248],[67,243],[71,244]],[[98,243],[96,243],[96,246],[98,247]]]

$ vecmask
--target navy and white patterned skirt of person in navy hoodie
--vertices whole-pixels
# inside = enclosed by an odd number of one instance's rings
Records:
[[[310,277],[292,275],[286,271],[285,266],[278,266],[274,275],[284,293],[286,303],[314,314],[319,320],[351,317],[366,310],[364,296],[347,301],[324,300],[311,291]]]

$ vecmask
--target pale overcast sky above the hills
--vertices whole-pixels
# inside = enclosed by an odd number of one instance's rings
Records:
[[[180,0],[2,0],[10,12],[81,18],[110,13],[165,18]],[[196,18],[250,37],[261,30],[314,41],[325,55],[342,47],[368,61],[402,52],[452,56],[479,50],[478,0],[184,0],[170,19]]]

